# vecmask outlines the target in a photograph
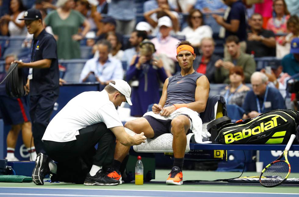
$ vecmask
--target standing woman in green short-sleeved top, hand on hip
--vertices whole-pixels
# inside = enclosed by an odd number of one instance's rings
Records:
[[[56,5],[58,9],[47,15],[45,25],[52,27],[57,40],[58,58],[81,58],[79,40],[85,37],[90,24],[80,12],[73,10],[74,0],[58,0]],[[84,29],[78,34],[80,26],[84,26]]]

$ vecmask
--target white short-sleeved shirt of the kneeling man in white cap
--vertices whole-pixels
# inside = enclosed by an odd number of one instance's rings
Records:
[[[102,122],[107,128],[123,126],[106,90],[83,92],[71,99],[51,120],[42,140],[76,140],[80,129]]]

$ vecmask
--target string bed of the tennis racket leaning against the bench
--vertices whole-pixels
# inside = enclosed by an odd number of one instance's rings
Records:
[[[267,169],[261,177],[261,183],[264,185],[276,185],[282,182],[289,173],[289,165],[285,161],[278,161]]]

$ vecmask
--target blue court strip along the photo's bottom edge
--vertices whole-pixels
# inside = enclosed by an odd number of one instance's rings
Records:
[[[196,192],[196,191],[157,191],[157,190],[118,190],[118,189],[67,189],[67,188],[12,188],[2,187],[0,196],[91,196],[91,197],[180,197],[180,196],[218,196],[222,197],[284,197],[299,196],[292,193],[258,193],[258,192]]]

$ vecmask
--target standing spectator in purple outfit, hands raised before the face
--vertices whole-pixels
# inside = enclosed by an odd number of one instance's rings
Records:
[[[167,78],[161,59],[153,57],[155,46],[149,40],[140,44],[140,54],[132,59],[127,71],[127,81],[138,80],[139,85],[132,88],[131,116],[141,117],[146,113],[150,104],[160,100],[160,82]]]

